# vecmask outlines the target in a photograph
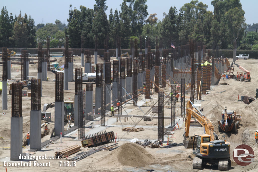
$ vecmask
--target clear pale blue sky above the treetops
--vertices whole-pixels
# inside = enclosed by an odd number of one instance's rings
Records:
[[[163,12],[168,13],[170,6],[176,6],[176,9],[179,11],[180,7],[185,3],[189,3],[191,0],[147,0],[148,5],[148,13],[153,14],[157,13],[157,17],[159,20],[163,19]],[[113,9],[113,14],[115,9],[120,10],[120,4],[122,4],[123,0],[107,0],[106,5],[108,9],[106,11],[107,17],[109,15],[110,9]],[[199,1],[200,2],[200,1]],[[208,5],[208,10],[213,11],[213,6],[211,5],[211,0],[203,0],[203,3]],[[245,18],[247,24],[258,23],[257,10],[258,1],[257,0],[240,0],[242,4],[242,8],[245,11]],[[35,21],[35,26],[39,23],[54,23],[56,19],[67,24],[69,5],[72,4],[72,8],[76,7],[79,9],[80,5],[84,5],[87,8],[93,9],[93,5],[95,4],[94,0],[44,0],[44,1],[35,1],[35,0],[2,0],[2,6],[6,6],[7,11],[12,13],[13,15],[19,15],[20,10],[22,16],[24,13],[27,15],[31,15],[31,17]]]

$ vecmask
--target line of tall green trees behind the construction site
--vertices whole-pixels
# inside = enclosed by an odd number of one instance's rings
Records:
[[[258,40],[257,33],[257,36],[254,33],[251,36],[245,32],[245,12],[239,0],[213,0],[213,12],[207,10],[208,5],[193,0],[179,10],[171,6],[167,13],[163,13],[163,19],[158,19],[156,13],[148,13],[147,0],[123,0],[121,9],[111,9],[108,17],[106,0],[95,1],[93,9],[83,5],[76,9],[70,5],[67,26],[60,20],[34,26],[34,20],[26,13],[24,17],[21,12],[18,17],[11,13],[9,17],[6,7],[3,7],[0,47],[37,47],[38,42],[45,46],[47,37],[50,37],[51,47],[62,47],[66,36],[70,48],[81,48],[82,37],[84,48],[94,48],[95,36],[98,48],[103,48],[107,35],[109,48],[116,47],[116,37],[121,37],[122,48],[129,48],[131,37],[140,36],[142,48],[146,36],[151,40],[151,48],[156,46],[156,36],[162,40],[164,48],[170,48],[171,41],[178,46],[187,44],[189,39],[204,42],[207,48],[218,45],[220,49],[232,49],[233,41],[237,39],[239,48],[242,44],[254,44]],[[249,37],[254,37],[253,43]]]

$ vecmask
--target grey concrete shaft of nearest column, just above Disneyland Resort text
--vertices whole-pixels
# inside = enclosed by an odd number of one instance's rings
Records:
[[[11,117],[11,161],[19,161],[22,154],[22,117]]]

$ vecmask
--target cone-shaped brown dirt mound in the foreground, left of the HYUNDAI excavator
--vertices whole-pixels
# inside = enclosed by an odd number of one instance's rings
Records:
[[[119,162],[124,166],[144,167],[154,163],[154,160],[155,158],[142,146],[136,143],[124,143],[99,163],[116,164]]]

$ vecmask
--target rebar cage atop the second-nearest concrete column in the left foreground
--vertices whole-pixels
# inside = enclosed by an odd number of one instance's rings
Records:
[[[31,110],[41,109],[41,80],[31,78]]]

